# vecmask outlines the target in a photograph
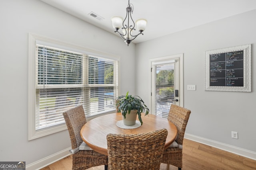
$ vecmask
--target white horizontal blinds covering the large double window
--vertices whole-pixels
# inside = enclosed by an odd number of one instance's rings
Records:
[[[80,104],[86,117],[114,111],[117,96],[118,61],[36,44],[36,130]]]

